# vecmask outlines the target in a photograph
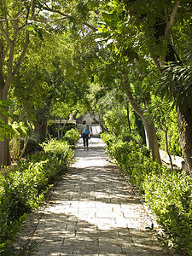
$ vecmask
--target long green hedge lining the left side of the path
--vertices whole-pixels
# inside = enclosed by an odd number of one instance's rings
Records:
[[[15,240],[26,212],[38,207],[44,193],[59,173],[67,172],[73,150],[65,141],[44,143],[44,152],[19,162],[14,170],[0,177],[0,254],[13,255]]]

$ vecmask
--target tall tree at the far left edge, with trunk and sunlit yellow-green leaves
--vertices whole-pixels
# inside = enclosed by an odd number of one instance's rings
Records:
[[[20,69],[20,64],[26,55],[30,40],[32,41],[32,35],[43,39],[42,29],[44,24],[48,27],[49,32],[61,31],[61,29],[73,28],[75,19],[82,19],[82,17],[73,15],[73,3],[69,1],[61,1],[60,3],[56,1],[41,2],[39,0],[1,1],[0,100],[4,100],[8,96],[11,83],[15,74]],[[75,6],[78,8],[77,4]],[[67,12],[70,15],[67,15]],[[66,25],[66,20],[69,20],[70,26]],[[53,25],[55,22],[56,25]],[[3,116],[1,119],[3,119],[6,125],[8,119]],[[0,165],[9,165],[9,163],[9,140],[2,135],[0,142]]]

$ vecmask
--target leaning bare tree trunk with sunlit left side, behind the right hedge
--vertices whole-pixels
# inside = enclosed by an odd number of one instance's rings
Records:
[[[144,110],[139,107],[137,102],[133,99],[131,94],[131,90],[129,90],[129,85],[125,88],[126,96],[128,97],[132,108],[136,111],[136,113],[141,117],[143,120],[143,126],[145,130],[145,137],[146,137],[146,145],[148,149],[151,149],[152,154],[154,156],[154,160],[156,160],[159,164],[161,164],[160,160],[160,150],[157,141],[156,131],[154,127],[154,120],[146,117],[144,115]]]

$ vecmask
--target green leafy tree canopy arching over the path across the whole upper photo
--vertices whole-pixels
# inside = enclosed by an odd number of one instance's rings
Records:
[[[83,113],[82,103],[88,109],[91,100],[95,108],[120,91],[160,162],[158,128],[146,113],[158,108],[155,96],[166,96],[177,108],[183,154],[192,167],[185,140],[192,126],[189,0],[3,1],[0,15],[2,100],[15,97],[34,123],[47,121],[50,111],[62,113],[63,104]],[[5,144],[6,138],[2,152]]]

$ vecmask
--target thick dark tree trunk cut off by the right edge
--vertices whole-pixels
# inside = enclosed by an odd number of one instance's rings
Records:
[[[177,109],[177,124],[181,146],[183,149],[184,159],[189,168],[192,170],[192,108],[189,107],[186,113]]]

